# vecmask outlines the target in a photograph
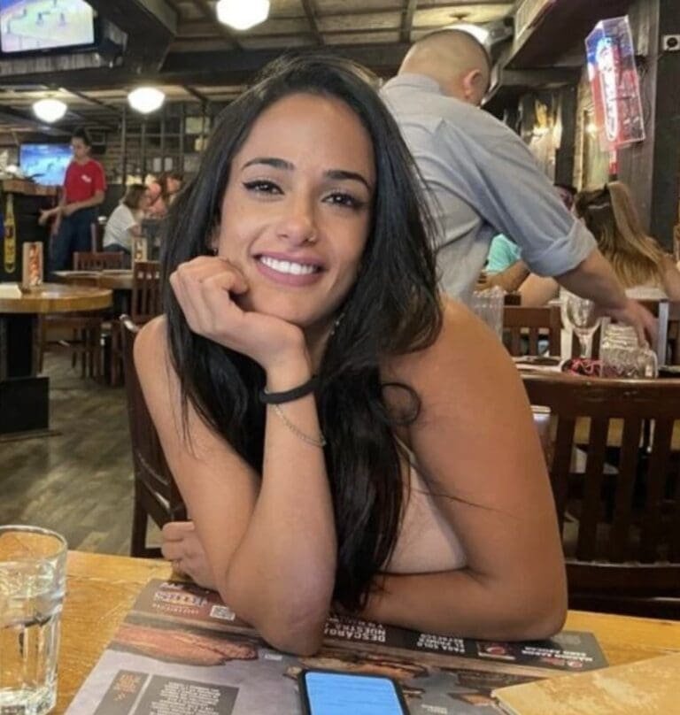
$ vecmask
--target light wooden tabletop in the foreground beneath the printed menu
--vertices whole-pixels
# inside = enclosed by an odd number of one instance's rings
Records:
[[[162,560],[69,553],[56,715],[73,700],[144,584],[170,575]],[[677,621],[570,611],[565,628],[594,633],[611,665],[680,650]]]

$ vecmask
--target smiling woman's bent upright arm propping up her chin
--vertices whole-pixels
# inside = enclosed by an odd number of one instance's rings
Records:
[[[217,265],[217,281],[205,274],[200,276],[200,286],[194,285],[189,291],[193,304],[185,314],[204,311],[206,304],[215,301],[211,312],[219,314],[220,319],[230,319],[229,306],[223,303],[225,296],[229,303],[230,299],[220,284],[224,265],[216,258],[201,260],[202,265]],[[185,288],[186,281],[184,288],[175,288],[183,296],[182,304],[187,304]],[[279,319],[243,315],[248,320],[235,328],[235,334],[241,341],[250,341],[249,349],[253,349],[251,327],[246,324],[249,320],[264,321],[254,334],[267,341],[275,339],[279,326],[274,321],[290,327]],[[195,318],[194,314],[189,324],[196,332],[210,332],[205,327],[209,321],[198,326]],[[223,335],[209,336],[216,342],[224,341]],[[243,344],[233,347],[245,350]],[[264,350],[263,346],[254,351],[258,350]],[[306,360],[292,354],[287,358],[284,350],[274,352],[282,358],[267,364],[269,390],[287,390],[309,379]],[[162,371],[158,368],[159,355],[166,365]],[[300,352],[299,357],[302,355]],[[139,334],[135,360],[168,464],[195,522],[220,595],[274,646],[299,653],[317,650],[336,572],[335,523],[323,450],[302,440],[272,407],[267,407],[260,480],[191,408],[191,443],[186,442],[179,384],[170,367],[162,322],[151,323]],[[312,395],[283,404],[281,409],[300,432],[319,434]]]

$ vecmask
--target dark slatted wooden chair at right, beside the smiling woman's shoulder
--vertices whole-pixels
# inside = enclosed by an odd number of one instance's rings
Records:
[[[680,380],[522,377],[530,403],[552,414],[548,463],[569,607],[680,618]],[[653,434],[641,449],[647,420]]]

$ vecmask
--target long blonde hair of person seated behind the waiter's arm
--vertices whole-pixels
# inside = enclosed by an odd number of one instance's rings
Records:
[[[650,281],[661,286],[665,252],[645,234],[626,184],[610,181],[582,191],[574,205],[625,288]]]

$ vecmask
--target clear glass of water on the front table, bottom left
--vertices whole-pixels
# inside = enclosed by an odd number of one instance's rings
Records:
[[[44,715],[57,700],[66,540],[0,527],[0,715]]]

